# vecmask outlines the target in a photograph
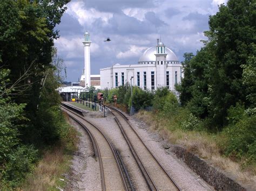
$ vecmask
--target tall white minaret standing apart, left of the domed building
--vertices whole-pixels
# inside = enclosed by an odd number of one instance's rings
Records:
[[[83,74],[85,75],[85,87],[90,87],[91,86],[91,58],[90,58],[90,46],[91,46],[91,41],[90,41],[90,33],[85,32],[84,33],[84,70]],[[87,86],[86,86],[87,84]]]

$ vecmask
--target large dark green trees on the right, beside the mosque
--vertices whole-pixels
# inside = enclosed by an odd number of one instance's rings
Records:
[[[255,1],[230,0],[209,20],[208,40],[196,56],[185,53],[181,105],[205,119],[209,129],[228,124],[228,109],[238,102],[255,107]]]

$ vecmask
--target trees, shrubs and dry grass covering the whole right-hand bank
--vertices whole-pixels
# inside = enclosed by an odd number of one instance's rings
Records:
[[[150,124],[180,140],[201,156],[220,160],[220,154],[256,173],[255,0],[230,0],[209,19],[208,40],[197,52],[184,54],[184,79],[176,86],[179,102],[165,88],[149,93],[133,88],[134,108],[151,108]],[[105,91],[105,95],[107,92]],[[131,91],[109,91],[129,110]],[[136,100],[136,101],[135,101]],[[172,134],[171,133],[171,134]],[[193,138],[192,138],[193,137]],[[191,139],[192,138],[192,139]],[[198,142],[197,140],[198,139]],[[200,140],[200,141],[199,141]],[[201,146],[199,146],[201,145]],[[206,154],[208,153],[208,154]],[[218,163],[216,162],[216,163]]]

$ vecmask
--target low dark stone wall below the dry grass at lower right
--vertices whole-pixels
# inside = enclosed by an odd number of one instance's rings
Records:
[[[197,155],[187,151],[185,148],[174,145],[171,147],[177,157],[183,160],[188,167],[190,167],[195,173],[197,173],[202,179],[204,179],[209,185],[213,186],[217,190],[246,190],[239,183],[232,180],[226,174],[219,169],[207,164],[203,159],[200,159]]]

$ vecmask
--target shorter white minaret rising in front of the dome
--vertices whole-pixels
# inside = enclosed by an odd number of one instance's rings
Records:
[[[166,53],[164,43],[157,39],[156,46],[156,86],[166,86]]]

